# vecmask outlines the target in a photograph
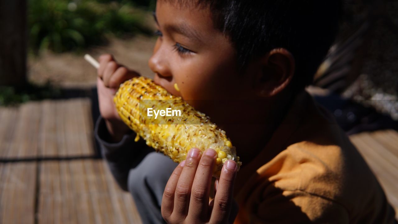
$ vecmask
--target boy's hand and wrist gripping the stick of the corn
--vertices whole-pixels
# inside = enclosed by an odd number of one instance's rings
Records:
[[[106,127],[111,135],[112,141],[120,141],[129,128],[123,123],[113,102],[113,96],[120,84],[139,76],[139,73],[131,71],[118,64],[112,55],[105,54],[99,58],[100,67],[98,68],[97,91],[100,114],[105,120]]]

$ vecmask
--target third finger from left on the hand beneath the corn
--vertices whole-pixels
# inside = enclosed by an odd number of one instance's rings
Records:
[[[189,201],[188,217],[192,220],[207,221],[211,177],[216,157],[217,153],[214,149],[207,149],[200,159]]]

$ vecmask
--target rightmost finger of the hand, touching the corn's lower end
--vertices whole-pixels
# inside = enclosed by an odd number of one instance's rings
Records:
[[[231,159],[228,159],[222,167],[210,218],[211,223],[225,223],[228,221],[233,201],[236,168],[235,161]]]

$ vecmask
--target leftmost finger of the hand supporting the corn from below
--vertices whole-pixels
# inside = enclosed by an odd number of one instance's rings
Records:
[[[174,169],[172,175],[167,181],[166,187],[164,188],[162,197],[162,206],[160,211],[162,212],[163,218],[167,219],[171,216],[174,206],[174,193],[176,192],[176,186],[178,183],[179,176],[181,175],[182,168],[184,167],[185,160],[182,161],[176,169]]]

